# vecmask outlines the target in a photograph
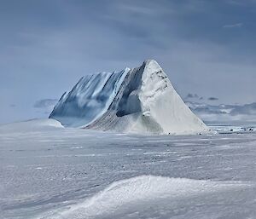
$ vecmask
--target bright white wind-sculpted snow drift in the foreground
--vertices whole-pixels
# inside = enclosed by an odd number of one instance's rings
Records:
[[[159,205],[171,204],[173,201],[184,203],[187,199],[198,199],[203,195],[210,197],[214,193],[234,191],[248,186],[249,184],[244,182],[137,176],[113,182],[90,199],[69,206],[68,210],[49,212],[38,219],[136,218],[136,214],[132,214],[142,209],[145,212],[150,209],[152,214],[156,211],[154,208]],[[169,206],[167,212],[171,209]]]

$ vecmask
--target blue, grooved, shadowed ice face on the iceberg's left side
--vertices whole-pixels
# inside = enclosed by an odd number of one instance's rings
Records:
[[[81,78],[69,93],[64,93],[49,118],[65,126],[90,124],[108,110],[129,68],[121,72],[101,72]]]

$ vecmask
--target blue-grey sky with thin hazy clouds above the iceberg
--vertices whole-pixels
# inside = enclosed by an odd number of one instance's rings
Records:
[[[46,118],[86,74],[154,59],[183,97],[256,101],[254,0],[0,0],[0,124]]]

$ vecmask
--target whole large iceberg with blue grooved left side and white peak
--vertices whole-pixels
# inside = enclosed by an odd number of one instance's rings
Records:
[[[67,127],[122,133],[183,135],[207,132],[154,60],[121,72],[84,76],[49,118]]]

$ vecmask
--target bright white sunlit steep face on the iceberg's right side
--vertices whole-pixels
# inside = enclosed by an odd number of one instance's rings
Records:
[[[139,98],[143,115],[160,124],[163,133],[185,134],[207,130],[201,119],[184,104],[156,61],[146,61],[142,81]]]

